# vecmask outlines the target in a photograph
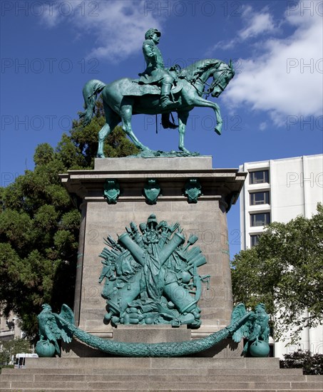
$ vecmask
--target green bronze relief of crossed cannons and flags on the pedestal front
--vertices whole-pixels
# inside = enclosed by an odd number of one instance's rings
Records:
[[[198,300],[202,282],[209,275],[198,274],[206,263],[199,247],[192,247],[198,237],[191,234],[185,243],[178,223],[158,222],[155,215],[118,237],[108,237],[103,249],[105,280],[102,291],[111,324],[188,324],[200,326]],[[189,249],[190,248],[190,249]]]

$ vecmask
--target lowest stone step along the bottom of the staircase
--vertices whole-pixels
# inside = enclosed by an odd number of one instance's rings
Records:
[[[212,383],[212,382],[183,382],[183,383],[170,383],[170,382],[151,382],[143,379],[141,382],[134,383],[131,380],[122,382],[81,382],[81,381],[39,381],[39,382],[19,382],[19,381],[4,381],[1,389],[19,389],[19,390],[37,390],[47,391],[48,389],[65,389],[66,391],[120,391],[130,388],[133,391],[161,391],[168,390],[185,390],[185,391],[224,391],[224,390],[314,390],[322,391],[322,382],[276,382],[271,383],[258,383],[258,382],[225,382],[225,383]],[[0,390],[1,390],[0,389]]]

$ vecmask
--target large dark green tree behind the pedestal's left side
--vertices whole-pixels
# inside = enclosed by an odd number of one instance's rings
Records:
[[[73,306],[80,214],[58,177],[67,170],[92,169],[98,131],[104,124],[102,102],[89,125],[73,122],[56,148],[43,143],[34,153],[34,171],[0,188],[0,307],[14,311],[29,336],[37,331],[41,304],[58,310]],[[138,153],[116,127],[106,156]]]

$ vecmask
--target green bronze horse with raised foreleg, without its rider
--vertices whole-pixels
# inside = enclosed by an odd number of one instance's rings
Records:
[[[187,68],[179,71],[176,76],[178,83],[181,83],[180,91],[174,93],[174,107],[160,110],[160,96],[158,93],[146,93],[142,96],[129,95],[133,90],[133,81],[130,78],[122,78],[108,85],[98,80],[91,80],[83,88],[83,97],[85,101],[85,111],[81,113],[84,118],[84,125],[90,123],[93,110],[96,104],[96,96],[102,93],[103,107],[106,115],[106,124],[98,133],[98,153],[97,158],[105,158],[103,154],[103,143],[111,131],[122,122],[122,129],[133,141],[135,146],[140,150],[150,150],[140,143],[131,128],[131,116],[133,114],[163,114],[176,111],[178,113],[178,132],[180,134],[178,148],[183,155],[190,155],[184,147],[185,126],[188,121],[190,110],[195,106],[212,108],[217,118],[215,132],[220,135],[222,129],[222,118],[219,106],[202,98],[203,94],[211,94],[213,97],[220,96],[220,93],[227,87],[227,84],[235,75],[232,61],[229,64],[210,58],[197,61]],[[207,79],[213,78],[213,81],[207,91],[204,91]],[[148,88],[151,86],[148,86]]]

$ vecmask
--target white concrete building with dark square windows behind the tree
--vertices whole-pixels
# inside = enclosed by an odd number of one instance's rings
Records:
[[[257,244],[270,222],[289,222],[297,215],[310,218],[323,202],[323,155],[244,163],[248,172],[240,193],[241,249]],[[300,346],[323,354],[323,326],[302,332],[299,345],[275,343],[275,356],[282,357]]]

